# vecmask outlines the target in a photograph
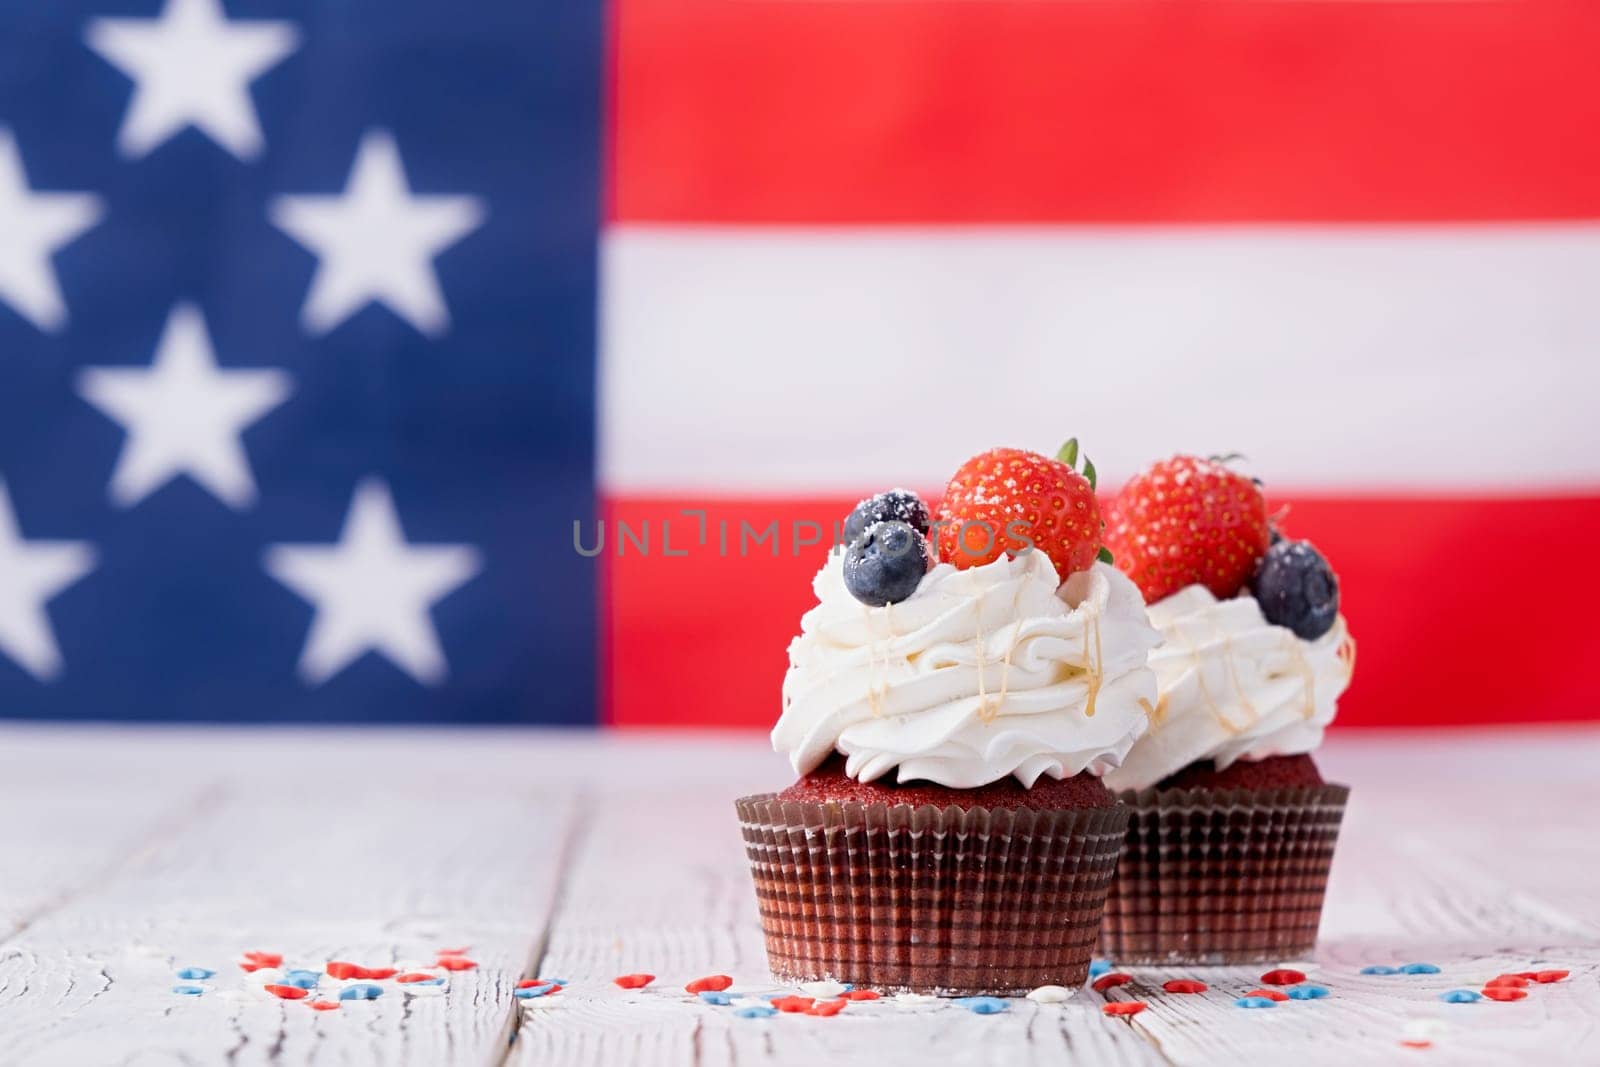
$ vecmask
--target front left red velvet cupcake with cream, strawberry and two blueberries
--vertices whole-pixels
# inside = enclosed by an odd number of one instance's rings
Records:
[[[902,490],[846,520],[773,729],[800,777],[738,801],[778,977],[1083,982],[1128,817],[1101,776],[1146,729],[1160,638],[1074,464],[995,450],[936,523]]]

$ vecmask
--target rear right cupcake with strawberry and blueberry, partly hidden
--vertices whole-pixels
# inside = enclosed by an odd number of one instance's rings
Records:
[[[1317,942],[1349,789],[1310,753],[1350,683],[1339,584],[1267,520],[1259,483],[1179,456],[1110,507],[1117,563],[1162,646],[1150,729],[1106,777],[1130,806],[1101,950],[1117,963],[1246,963]]]

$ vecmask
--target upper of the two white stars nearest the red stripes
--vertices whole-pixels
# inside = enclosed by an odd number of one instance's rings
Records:
[[[376,301],[429,336],[450,326],[434,256],[475,230],[478,197],[413,197],[400,149],[370,131],[341,195],[278,197],[272,224],[317,254],[301,323],[320,334]]]

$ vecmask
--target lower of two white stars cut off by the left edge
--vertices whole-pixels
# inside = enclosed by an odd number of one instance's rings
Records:
[[[50,681],[61,673],[61,649],[45,601],[94,569],[83,541],[22,541],[11,498],[0,482],[0,653]]]

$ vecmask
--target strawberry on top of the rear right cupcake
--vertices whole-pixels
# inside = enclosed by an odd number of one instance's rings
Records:
[[[1120,566],[1155,603],[1200,584],[1234,597],[1267,553],[1267,498],[1214,459],[1173,456],[1134,475],[1112,501],[1106,528]]]

